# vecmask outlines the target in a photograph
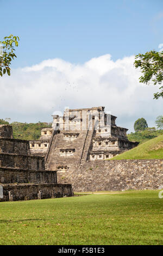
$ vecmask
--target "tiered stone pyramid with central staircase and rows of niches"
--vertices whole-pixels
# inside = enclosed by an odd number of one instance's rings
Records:
[[[59,182],[87,161],[107,160],[136,147],[128,129],[118,127],[116,117],[104,107],[65,109],[53,115],[52,128],[44,128],[38,141],[30,141],[30,152],[45,156],[47,170],[58,170]]]

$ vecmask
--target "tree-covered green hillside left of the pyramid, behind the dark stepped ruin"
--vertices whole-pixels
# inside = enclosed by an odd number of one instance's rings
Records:
[[[0,119],[0,124],[9,124],[7,121]],[[26,139],[32,141],[39,139],[41,136],[41,128],[51,127],[52,123],[18,123],[13,122],[12,125],[13,134],[15,139]]]

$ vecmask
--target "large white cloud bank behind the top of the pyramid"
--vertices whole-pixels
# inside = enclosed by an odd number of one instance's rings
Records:
[[[162,99],[153,100],[158,87],[139,83],[140,71],[134,56],[111,60],[110,54],[72,64],[48,59],[23,69],[12,70],[0,80],[1,114],[15,121],[50,121],[54,111],[65,106],[105,106],[118,117],[118,125],[131,127],[137,118],[154,125],[162,114]]]

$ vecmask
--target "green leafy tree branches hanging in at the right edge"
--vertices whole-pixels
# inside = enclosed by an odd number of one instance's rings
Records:
[[[149,84],[152,82],[154,85],[161,84],[163,80],[163,52],[150,51],[145,54],[138,54],[135,56],[135,68],[140,68],[142,76],[139,78],[140,83]],[[163,86],[160,92],[154,93],[154,99],[163,97]]]

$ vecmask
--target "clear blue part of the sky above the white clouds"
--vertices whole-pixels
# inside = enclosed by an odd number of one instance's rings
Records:
[[[163,42],[162,0],[1,0],[1,38],[20,36],[13,67],[48,58],[123,58]]]

